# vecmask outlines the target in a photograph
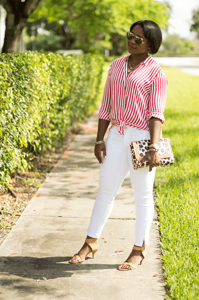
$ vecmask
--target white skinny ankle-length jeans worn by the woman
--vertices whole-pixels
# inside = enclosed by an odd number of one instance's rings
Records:
[[[106,156],[100,168],[99,190],[86,234],[99,238],[113,208],[115,196],[130,170],[131,186],[135,197],[135,240],[136,246],[142,246],[143,239],[148,246],[149,229],[154,215],[153,184],[156,168],[133,169],[130,143],[136,140],[148,140],[147,130],[124,127],[124,135],[119,135],[119,127],[111,127],[106,141]],[[118,212],[119,217],[119,212]]]

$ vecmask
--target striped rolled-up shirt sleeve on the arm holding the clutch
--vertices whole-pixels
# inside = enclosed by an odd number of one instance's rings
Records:
[[[167,85],[165,73],[160,70],[151,85],[147,121],[154,117],[162,120],[162,124],[165,122],[163,113],[166,104]]]

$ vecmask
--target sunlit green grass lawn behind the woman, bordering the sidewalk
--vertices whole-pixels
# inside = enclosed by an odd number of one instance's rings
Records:
[[[110,63],[105,63],[101,101]],[[163,67],[168,79],[163,137],[175,156],[157,168],[156,205],[167,299],[199,299],[199,76]]]

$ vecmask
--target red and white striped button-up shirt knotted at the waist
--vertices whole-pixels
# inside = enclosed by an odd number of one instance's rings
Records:
[[[149,130],[151,117],[162,120],[168,81],[164,71],[149,56],[127,76],[130,55],[112,61],[104,88],[98,118],[120,125],[119,134],[124,134],[124,126]]]

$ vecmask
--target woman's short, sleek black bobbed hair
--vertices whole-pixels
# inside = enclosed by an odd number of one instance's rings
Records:
[[[145,38],[150,44],[149,53],[157,53],[162,44],[162,32],[159,26],[156,24],[156,22],[150,20],[138,21],[130,26],[130,32],[136,25],[140,25],[144,30]]]

